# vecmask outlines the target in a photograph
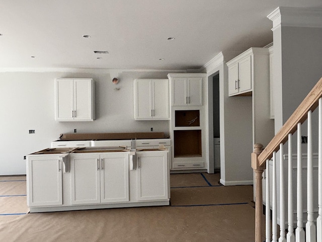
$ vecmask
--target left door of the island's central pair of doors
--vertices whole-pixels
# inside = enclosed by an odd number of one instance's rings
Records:
[[[70,155],[71,204],[100,203],[100,156]]]

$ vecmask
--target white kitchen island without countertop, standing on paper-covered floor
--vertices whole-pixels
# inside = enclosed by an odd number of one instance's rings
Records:
[[[48,148],[27,155],[30,212],[170,203],[168,150]]]

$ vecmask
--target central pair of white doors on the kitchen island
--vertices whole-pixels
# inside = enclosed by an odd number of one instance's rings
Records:
[[[128,154],[70,155],[71,204],[129,201]]]

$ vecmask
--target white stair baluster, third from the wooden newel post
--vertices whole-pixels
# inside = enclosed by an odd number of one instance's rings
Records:
[[[283,168],[283,144],[280,144],[280,237],[279,242],[286,242],[285,237],[285,182]]]

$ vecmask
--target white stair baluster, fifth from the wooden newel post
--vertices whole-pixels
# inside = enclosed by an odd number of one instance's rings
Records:
[[[302,132],[301,124],[297,124],[297,227],[295,229],[295,241],[305,242],[305,232],[303,229],[303,193],[302,193]]]

